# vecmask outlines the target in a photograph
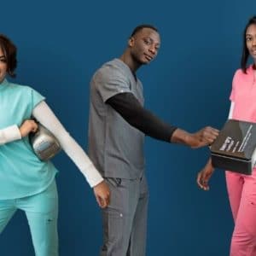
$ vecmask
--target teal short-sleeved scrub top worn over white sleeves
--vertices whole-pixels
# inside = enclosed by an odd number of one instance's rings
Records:
[[[0,84],[0,129],[20,125],[32,118],[32,110],[44,101],[29,86]],[[57,170],[50,161],[41,161],[33,153],[28,137],[0,145],[0,200],[36,195],[55,178]]]

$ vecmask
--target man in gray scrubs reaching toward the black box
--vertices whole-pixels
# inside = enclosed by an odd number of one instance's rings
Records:
[[[139,67],[160,48],[154,26],[137,26],[123,55],[99,68],[90,83],[89,154],[108,182],[111,201],[102,210],[101,256],[143,256],[146,247],[148,186],[144,173],[144,136],[200,148],[218,136],[203,128],[190,134],[168,125],[143,108]]]

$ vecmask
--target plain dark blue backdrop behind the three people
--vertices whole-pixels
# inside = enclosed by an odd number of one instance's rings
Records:
[[[146,107],[187,131],[221,128],[240,63],[242,30],[255,7],[255,0],[4,1],[1,32],[19,49],[15,81],[46,96],[67,131],[86,148],[90,77],[103,62],[121,55],[141,23],[157,26],[162,41],[157,59],[138,72]],[[145,149],[147,255],[228,255],[233,221],[224,172],[216,171],[209,192],[195,183],[208,149],[151,138]],[[98,255],[102,223],[92,190],[66,154],[54,162],[61,171],[60,255]],[[3,231],[0,248],[3,256],[33,255],[23,212]]]

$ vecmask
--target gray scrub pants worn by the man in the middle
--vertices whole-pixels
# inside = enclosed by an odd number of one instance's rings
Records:
[[[144,256],[148,217],[148,183],[137,179],[106,177],[110,205],[102,209],[103,246],[100,256]]]

